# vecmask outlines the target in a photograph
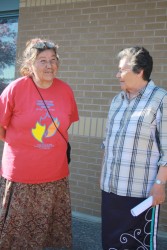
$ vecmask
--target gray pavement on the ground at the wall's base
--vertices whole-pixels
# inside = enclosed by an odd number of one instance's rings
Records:
[[[159,236],[157,242],[157,250],[167,250],[166,237]],[[73,250],[102,250],[99,221],[73,216]]]

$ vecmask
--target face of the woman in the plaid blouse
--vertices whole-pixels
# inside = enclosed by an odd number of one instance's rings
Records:
[[[116,77],[120,81],[123,91],[135,94],[143,86],[142,74],[142,70],[140,73],[134,73],[128,64],[127,58],[124,57],[119,62],[119,71]]]

